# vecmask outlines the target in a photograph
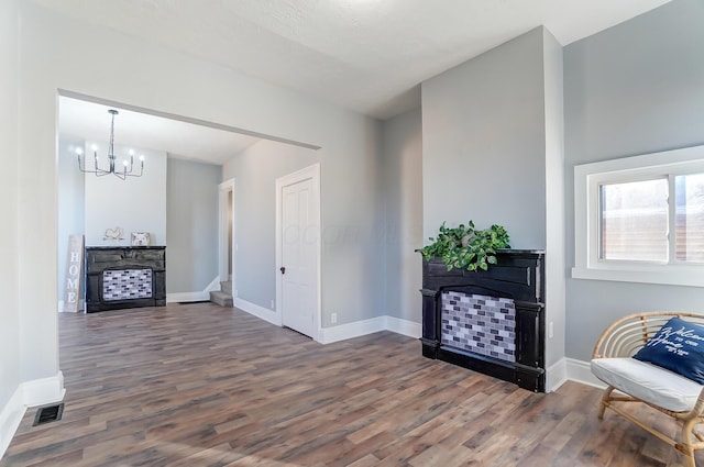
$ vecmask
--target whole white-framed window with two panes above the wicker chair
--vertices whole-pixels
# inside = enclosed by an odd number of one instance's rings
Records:
[[[574,168],[572,277],[704,287],[704,146]]]

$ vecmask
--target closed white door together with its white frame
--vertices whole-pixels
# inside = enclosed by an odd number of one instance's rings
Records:
[[[320,337],[320,165],[276,179],[276,312]]]

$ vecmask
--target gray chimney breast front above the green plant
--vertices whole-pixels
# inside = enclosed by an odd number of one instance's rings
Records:
[[[473,220],[546,246],[543,36],[538,27],[422,84],[424,237]]]

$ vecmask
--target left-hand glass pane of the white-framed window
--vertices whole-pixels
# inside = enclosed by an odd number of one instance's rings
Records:
[[[668,180],[600,188],[600,258],[667,262]]]

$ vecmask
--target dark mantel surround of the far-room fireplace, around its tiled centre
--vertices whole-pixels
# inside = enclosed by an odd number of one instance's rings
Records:
[[[145,271],[150,290],[133,298],[103,297],[106,271]],[[146,273],[148,271],[148,273]],[[110,276],[108,276],[110,277]],[[166,305],[165,246],[87,246],[86,311]]]

